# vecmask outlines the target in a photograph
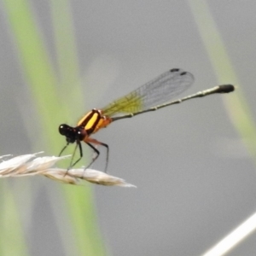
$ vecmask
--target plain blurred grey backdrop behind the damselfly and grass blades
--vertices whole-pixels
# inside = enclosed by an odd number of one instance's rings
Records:
[[[237,90],[244,91],[255,114],[256,2],[207,2],[241,81]],[[48,3],[31,3],[54,60]],[[218,84],[187,1],[71,4],[88,109],[63,122],[75,125],[90,108],[104,107],[172,67],[195,75],[186,94]],[[32,138],[40,135],[27,134],[22,120],[24,109],[28,116],[33,110],[26,102],[29,92],[3,13],[0,32],[1,154],[26,154],[32,150]],[[95,186],[100,228],[110,254],[200,255],[255,212],[255,167],[225,111],[224,97],[232,94],[120,120],[95,135],[110,147],[109,173],[137,185]],[[56,132],[58,125],[53,120]],[[94,166],[99,170],[104,148],[101,152]],[[38,183],[28,235],[32,255],[62,255],[45,192],[61,184],[46,179]],[[256,236],[249,236],[228,255],[253,256],[255,244]]]

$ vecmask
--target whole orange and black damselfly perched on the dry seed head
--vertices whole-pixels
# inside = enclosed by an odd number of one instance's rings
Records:
[[[184,90],[187,90],[189,86],[193,84],[193,82],[194,76],[191,73],[183,71],[179,68],[173,68],[166,73],[162,73],[160,76],[149,81],[147,84],[143,84],[137,90],[133,90],[126,96],[123,96],[110,103],[105,108],[92,109],[79,120],[77,126],[72,127],[66,124],[60,125],[59,132],[61,135],[66,137],[67,141],[67,144],[64,148],[62,148],[60,155],[63,153],[65,148],[67,148],[68,144],[76,143],[69,168],[73,167],[83,157],[81,142],[84,142],[96,153],[90,161],[91,165],[100,154],[99,150],[94,145],[101,145],[107,148],[107,160],[105,166],[105,172],[107,172],[109,151],[108,144],[101,143],[90,137],[91,134],[96,133],[96,131],[107,127],[109,124],[113,123],[113,121],[119,119],[131,118],[140,113],[165,108],[167,106],[197,97],[207,96],[215,93],[228,93],[235,90],[235,87],[231,84],[218,85],[212,87],[211,89],[202,90],[193,95],[185,96],[181,99],[170,102],[173,97],[179,95]],[[120,113],[126,114],[120,115]],[[78,147],[79,159],[73,161],[76,149]]]

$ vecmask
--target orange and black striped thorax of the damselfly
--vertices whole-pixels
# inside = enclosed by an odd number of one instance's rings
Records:
[[[96,133],[111,123],[112,119],[102,114],[102,110],[92,109],[79,120],[78,127],[84,129],[87,136]]]

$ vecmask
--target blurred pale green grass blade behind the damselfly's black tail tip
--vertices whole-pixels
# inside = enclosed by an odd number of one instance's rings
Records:
[[[256,126],[253,122],[253,113],[247,105],[241,83],[236,76],[218,26],[212,17],[207,1],[194,0],[188,3],[218,82],[238,85],[232,96],[224,97],[224,102],[230,119],[256,164]]]

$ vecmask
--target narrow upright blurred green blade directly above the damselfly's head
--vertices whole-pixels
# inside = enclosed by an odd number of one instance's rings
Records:
[[[67,115],[73,118],[74,113],[81,112],[81,108],[84,111],[84,104],[82,104],[84,96],[80,86],[79,59],[72,10],[68,0],[50,0],[49,2],[57,68],[61,79],[59,94],[64,105],[69,106],[66,108]]]

